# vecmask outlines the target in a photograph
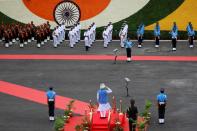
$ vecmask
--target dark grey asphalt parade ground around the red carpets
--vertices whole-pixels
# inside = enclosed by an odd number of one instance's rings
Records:
[[[170,43],[162,42],[160,50],[146,42],[142,49],[133,49],[134,55],[196,56],[197,47],[189,49],[180,42],[176,52],[170,51]],[[90,52],[83,45],[70,49],[61,46],[57,49],[46,45],[37,49],[33,44],[24,49],[17,45],[9,49],[0,46],[0,54],[112,54],[118,48],[113,42],[103,49],[97,42]],[[125,54],[124,49],[120,49]],[[123,99],[125,108],[129,99],[134,98],[139,111],[143,110],[146,99],[153,102],[149,131],[194,131],[197,128],[197,63],[133,61],[54,61],[54,60],[0,60],[0,80],[46,91],[46,85],[55,87],[62,96],[88,102],[96,101],[96,91],[100,82],[112,88],[117,100]],[[131,79],[129,93],[125,97],[124,77]],[[169,97],[166,124],[157,124],[155,97],[161,87]],[[47,120],[47,107],[13,96],[0,93],[0,129],[6,131],[53,131],[53,124]],[[57,110],[57,114],[62,114]]]

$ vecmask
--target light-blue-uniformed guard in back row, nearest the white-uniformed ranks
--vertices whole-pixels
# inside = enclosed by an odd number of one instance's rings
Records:
[[[144,24],[140,24],[137,29],[137,37],[138,37],[138,48],[142,47],[143,44],[143,36],[144,36]]]

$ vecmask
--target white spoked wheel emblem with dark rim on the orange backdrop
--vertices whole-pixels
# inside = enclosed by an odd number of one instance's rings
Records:
[[[71,27],[80,21],[81,11],[77,4],[66,0],[56,5],[53,16],[57,24],[64,23],[66,27]]]

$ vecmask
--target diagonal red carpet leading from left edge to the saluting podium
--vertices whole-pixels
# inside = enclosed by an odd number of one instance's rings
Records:
[[[46,99],[47,99],[46,92],[44,92],[44,91],[39,91],[36,89],[32,89],[32,88],[0,81],[0,92],[5,93],[5,94],[9,94],[12,96],[16,96],[19,98],[23,98],[23,99],[26,99],[29,101],[33,101],[36,103],[45,104],[45,105],[47,104],[46,103]],[[56,108],[64,110],[70,100],[72,100],[72,99],[57,95],[55,106],[56,106]],[[85,103],[85,102],[82,102],[79,100],[75,100],[74,107],[75,107],[75,105],[77,108],[74,108],[73,111],[77,114],[83,115],[85,110],[88,110],[88,103]]]

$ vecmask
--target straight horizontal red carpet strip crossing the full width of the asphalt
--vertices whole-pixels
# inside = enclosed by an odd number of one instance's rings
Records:
[[[0,55],[0,60],[114,60],[113,55]],[[118,56],[118,61],[126,56]],[[197,61],[197,56],[133,56],[134,61]]]

